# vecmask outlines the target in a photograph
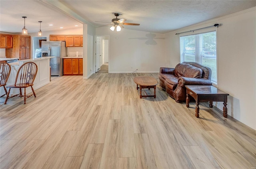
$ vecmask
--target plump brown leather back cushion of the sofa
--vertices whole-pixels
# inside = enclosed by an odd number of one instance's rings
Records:
[[[178,63],[176,65],[174,74],[177,77],[194,77],[194,78],[201,78],[203,71],[202,69],[192,66],[186,63]]]

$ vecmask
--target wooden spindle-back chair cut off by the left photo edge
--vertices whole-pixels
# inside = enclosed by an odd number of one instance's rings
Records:
[[[6,62],[0,62],[0,87],[4,86],[5,94],[7,96],[6,83],[11,73],[11,66]],[[0,97],[2,97],[0,96]]]

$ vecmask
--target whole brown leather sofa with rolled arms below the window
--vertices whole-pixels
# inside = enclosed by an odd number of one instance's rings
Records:
[[[175,68],[160,67],[160,86],[176,102],[186,100],[185,85],[212,85],[212,70],[196,62],[182,62]]]

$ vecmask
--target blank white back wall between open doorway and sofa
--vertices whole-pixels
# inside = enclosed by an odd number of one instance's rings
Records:
[[[164,50],[164,34],[122,29],[115,33],[108,27],[96,28],[96,35],[110,35],[109,72],[159,72],[170,65]],[[154,37],[154,38],[153,38]]]

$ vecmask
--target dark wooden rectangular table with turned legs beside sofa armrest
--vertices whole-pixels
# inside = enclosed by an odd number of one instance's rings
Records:
[[[228,93],[214,86],[196,86],[196,85],[186,85],[187,98],[186,106],[189,107],[189,96],[192,96],[196,100],[196,117],[199,118],[199,102],[209,102],[210,108],[212,108],[212,102],[223,102],[223,116],[228,117],[227,101]]]

